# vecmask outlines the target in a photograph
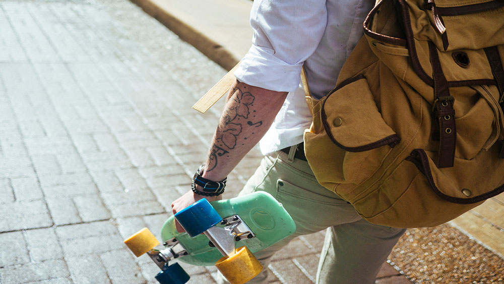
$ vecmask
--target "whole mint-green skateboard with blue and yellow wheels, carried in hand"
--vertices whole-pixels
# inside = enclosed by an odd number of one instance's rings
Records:
[[[184,233],[175,229],[175,219]],[[210,203],[201,199],[177,212],[162,226],[162,249],[154,249],[159,242],[147,228],[124,243],[137,257],[147,253],[154,260],[161,268],[156,276],[161,284],[182,284],[190,278],[178,263],[168,265],[172,259],[200,266],[215,264],[231,284],[242,284],[263,269],[253,253],[295,230],[282,204],[259,191]]]

